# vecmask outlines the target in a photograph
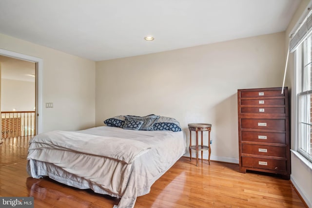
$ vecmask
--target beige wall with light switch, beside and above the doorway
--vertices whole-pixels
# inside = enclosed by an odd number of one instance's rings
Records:
[[[42,132],[95,125],[95,62],[0,34],[0,48],[43,59]],[[45,108],[53,102],[54,108]]]

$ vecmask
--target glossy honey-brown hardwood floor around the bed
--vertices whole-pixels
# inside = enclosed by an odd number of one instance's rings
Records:
[[[80,190],[26,172],[29,137],[4,139],[0,147],[0,196],[33,196],[35,208],[112,208],[119,200]],[[304,208],[290,181],[257,172],[238,172],[236,164],[182,157],[137,197],[136,208]]]

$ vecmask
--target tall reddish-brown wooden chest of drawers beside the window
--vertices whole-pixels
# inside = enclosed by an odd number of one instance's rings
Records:
[[[237,91],[239,168],[290,178],[288,89]]]

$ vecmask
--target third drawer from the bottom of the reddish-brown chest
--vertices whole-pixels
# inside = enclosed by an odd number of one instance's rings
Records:
[[[241,132],[242,141],[250,142],[265,142],[265,143],[286,143],[285,133],[273,133],[273,132]]]

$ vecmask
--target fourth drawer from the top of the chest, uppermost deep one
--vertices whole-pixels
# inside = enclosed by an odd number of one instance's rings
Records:
[[[241,128],[285,131],[285,119],[242,118]]]

